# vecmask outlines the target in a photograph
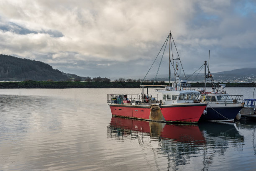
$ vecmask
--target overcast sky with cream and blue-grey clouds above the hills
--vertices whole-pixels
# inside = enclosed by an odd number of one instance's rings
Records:
[[[255,0],[0,0],[0,54],[84,77],[145,76],[170,31],[186,73],[256,67]]]

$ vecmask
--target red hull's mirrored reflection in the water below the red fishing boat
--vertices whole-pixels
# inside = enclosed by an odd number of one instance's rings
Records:
[[[181,143],[205,144],[205,138],[198,125],[172,125],[159,122],[134,120],[112,117],[110,122],[110,137],[130,136],[133,133],[144,133],[152,138],[168,139]]]

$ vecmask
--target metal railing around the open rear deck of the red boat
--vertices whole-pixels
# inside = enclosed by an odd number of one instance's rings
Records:
[[[147,105],[158,103],[158,94],[107,94],[109,104]]]

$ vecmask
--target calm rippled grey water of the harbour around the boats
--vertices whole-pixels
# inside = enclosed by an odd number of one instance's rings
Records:
[[[253,88],[226,90],[253,98]],[[0,171],[255,170],[256,121],[111,117],[108,93],[140,89],[0,89]]]

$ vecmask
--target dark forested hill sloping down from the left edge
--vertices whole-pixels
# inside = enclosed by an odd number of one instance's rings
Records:
[[[67,81],[70,78],[82,77],[65,74],[41,61],[0,54],[0,81]]]

